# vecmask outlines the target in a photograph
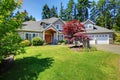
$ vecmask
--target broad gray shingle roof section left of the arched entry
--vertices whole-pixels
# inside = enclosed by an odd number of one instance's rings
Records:
[[[41,32],[44,29],[36,21],[27,21],[27,22],[23,22],[22,28],[20,30]]]

